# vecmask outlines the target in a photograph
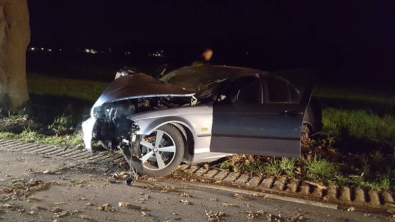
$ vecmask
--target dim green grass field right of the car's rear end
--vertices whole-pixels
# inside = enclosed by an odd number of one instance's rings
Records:
[[[394,146],[393,95],[371,89],[318,88],[314,96],[319,98],[323,106],[323,133]]]

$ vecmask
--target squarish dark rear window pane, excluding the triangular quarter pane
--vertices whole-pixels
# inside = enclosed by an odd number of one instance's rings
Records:
[[[275,77],[266,79],[268,102],[289,102],[288,84]]]

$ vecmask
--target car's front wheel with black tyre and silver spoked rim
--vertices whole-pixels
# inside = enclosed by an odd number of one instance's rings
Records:
[[[184,141],[179,131],[166,124],[140,141],[142,168],[148,176],[165,176],[173,172],[184,157]]]

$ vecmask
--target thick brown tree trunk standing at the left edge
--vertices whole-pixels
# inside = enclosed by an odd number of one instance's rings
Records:
[[[26,49],[30,42],[26,0],[0,0],[0,106],[16,111],[28,100]]]

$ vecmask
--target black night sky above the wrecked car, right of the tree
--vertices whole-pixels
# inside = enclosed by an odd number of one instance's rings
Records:
[[[393,1],[30,0],[28,5],[30,45],[62,49],[29,52],[28,72],[91,78],[87,72],[100,70],[111,79],[122,66],[189,65],[210,47],[215,65],[317,68],[328,84],[391,87]],[[84,48],[111,53],[78,51]],[[165,57],[147,56],[156,50]]]

